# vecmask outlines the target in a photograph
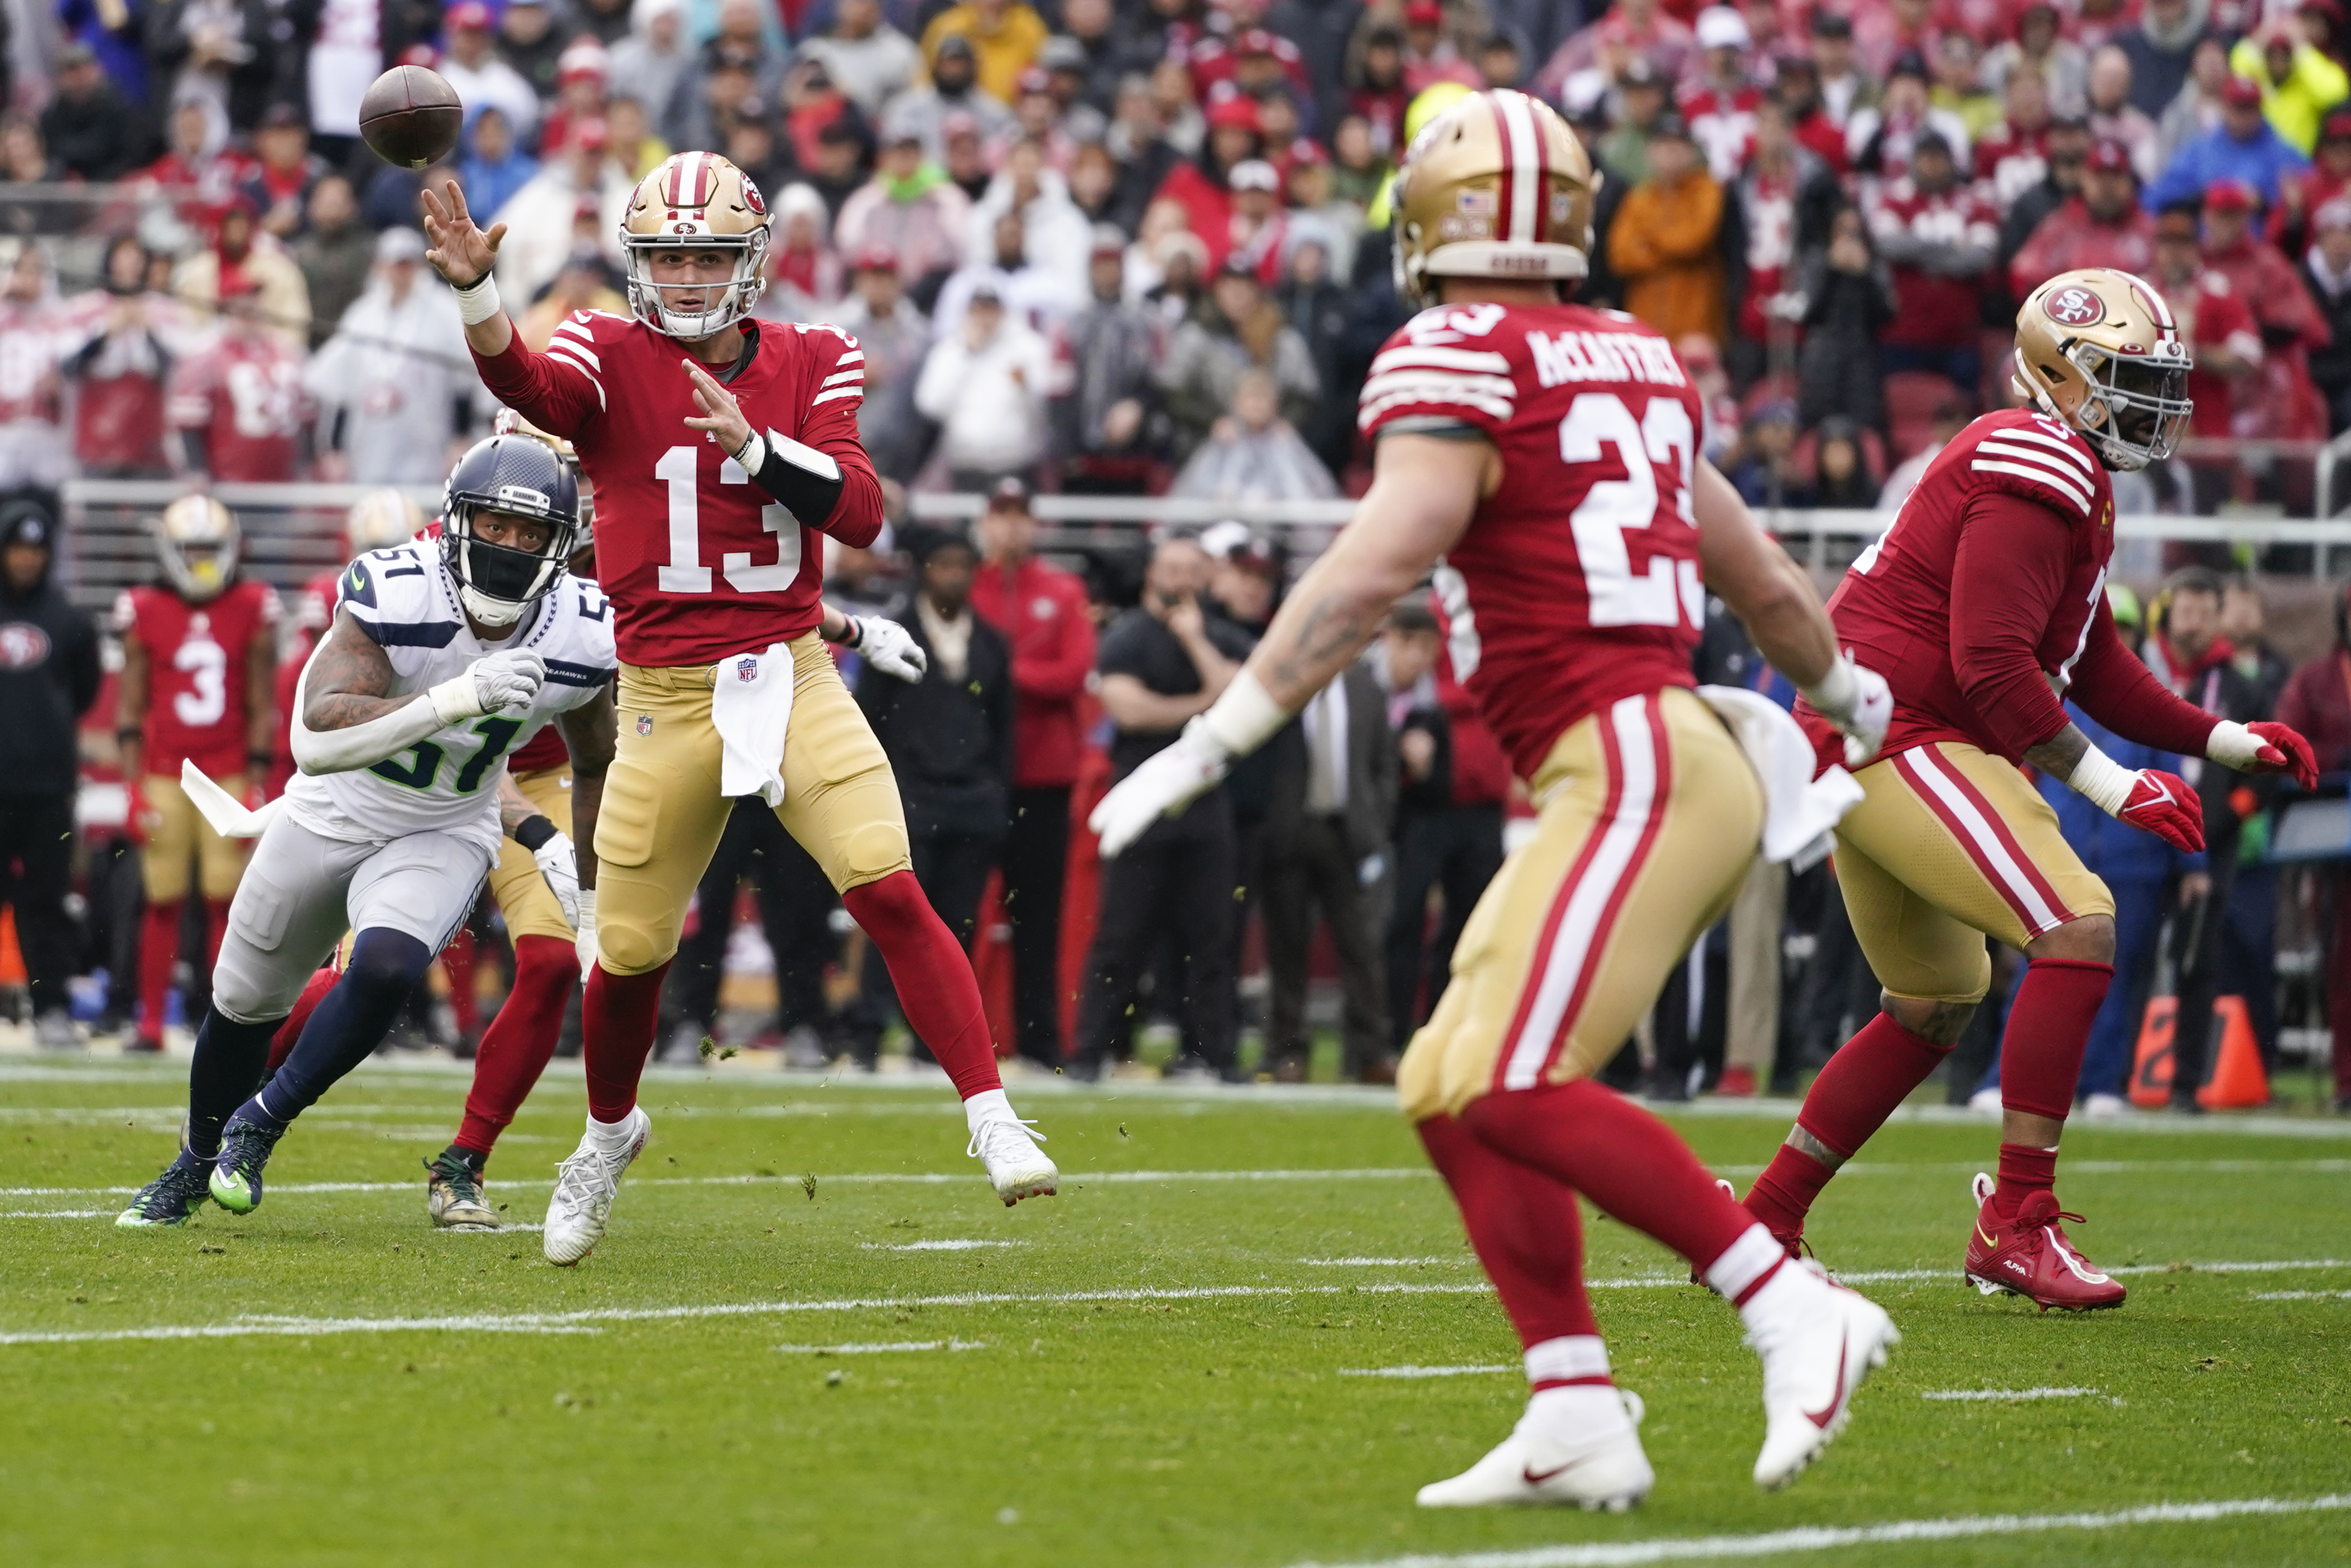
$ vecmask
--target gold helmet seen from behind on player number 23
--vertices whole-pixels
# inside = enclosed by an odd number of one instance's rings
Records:
[[[1396,292],[1434,306],[1439,277],[1582,277],[1599,186],[1549,103],[1469,94],[1420,127],[1396,174]]]

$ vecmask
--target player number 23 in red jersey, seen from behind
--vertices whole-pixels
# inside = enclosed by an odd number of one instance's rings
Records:
[[[1627,1507],[1650,1488],[1639,1403],[1613,1387],[1585,1298],[1578,1192],[1686,1255],[1747,1321],[1763,1356],[1761,1486],[1827,1446],[1900,1338],[1876,1305],[1789,1265],[1662,1121],[1592,1079],[1759,846],[1791,856],[1855,795],[1841,778],[1836,799],[1791,783],[1806,738],[1768,701],[1693,689],[1707,592],[1855,736],[1855,759],[1888,710],[1803,574],[1697,456],[1697,393],[1667,341],[1561,301],[1587,270],[1594,186],[1566,122],[1519,92],[1467,96],[1413,139],[1396,275],[1427,308],[1364,383],[1371,494],[1215,705],[1093,813],[1114,856],[1183,809],[1434,567],[1455,670],[1540,816],[1469,914],[1453,983],[1396,1074],[1531,1385],[1512,1436],[1422,1488],[1425,1507]],[[1784,762],[1766,773],[1756,757]]]

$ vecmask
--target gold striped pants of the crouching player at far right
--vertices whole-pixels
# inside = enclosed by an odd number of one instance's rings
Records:
[[[1982,1001],[1984,938],[2024,947],[2114,896],[2057,832],[2020,769],[1930,741],[1857,773],[1864,799],[1836,825],[1836,882],[1869,971],[1895,997]]]

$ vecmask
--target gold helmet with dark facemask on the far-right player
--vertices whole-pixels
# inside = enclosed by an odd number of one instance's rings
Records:
[[[2170,306],[2144,277],[2057,273],[2017,310],[2017,395],[2081,430],[2106,468],[2172,454],[2196,409],[2191,369]]]

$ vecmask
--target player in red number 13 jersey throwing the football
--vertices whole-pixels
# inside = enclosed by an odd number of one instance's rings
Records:
[[[1058,1185],[1013,1114],[971,961],[907,860],[889,757],[825,654],[823,534],[865,545],[882,484],[858,444],[865,355],[835,327],[755,322],[769,244],[759,188],[679,153],[628,200],[630,317],[574,313],[531,353],[496,299],[503,226],[456,183],[426,193],[428,261],[458,289],[482,383],[595,484],[597,576],[621,649],[621,750],[581,931],[588,1133],[564,1161],[545,1253],[578,1262],[644,1147],[637,1079],[661,976],[734,797],[759,795],[889,964],[907,1023],[964,1095],[971,1152],[1013,1204]],[[846,621],[858,642],[882,623]],[[903,632],[898,632],[903,637]]]

